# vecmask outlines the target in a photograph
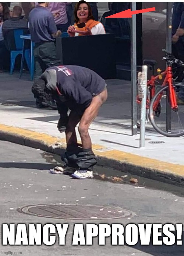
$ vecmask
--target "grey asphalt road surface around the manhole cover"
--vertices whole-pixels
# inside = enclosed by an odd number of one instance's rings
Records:
[[[64,246],[59,246],[58,242],[52,246],[4,246],[1,240],[0,255],[21,252],[24,256],[183,256],[183,246],[141,246],[140,243],[135,246],[112,246],[110,237],[106,239],[105,246],[98,245],[98,238],[94,238],[92,246],[71,245],[73,225],[77,223],[118,223],[124,226],[129,223],[183,223],[184,198],[182,196],[142,187],[139,184],[135,186],[113,183],[96,178],[74,180],[65,175],[52,175],[48,170],[58,164],[53,155],[5,141],[0,141],[0,156],[1,224],[69,224]],[[103,173],[104,169],[97,167],[96,171]],[[109,172],[112,173],[113,170]],[[177,190],[181,192],[180,188]],[[116,220],[74,221],[37,217],[17,211],[17,208],[37,204],[90,204],[100,207],[120,207],[133,214]]]

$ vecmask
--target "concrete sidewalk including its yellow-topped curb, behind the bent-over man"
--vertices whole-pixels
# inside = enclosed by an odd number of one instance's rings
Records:
[[[57,111],[36,109],[29,75],[18,75],[0,74],[0,139],[59,154],[65,140]],[[107,89],[109,98],[89,130],[99,164],[183,186],[184,138],[163,137],[150,126],[140,149],[139,134],[131,136],[130,82],[107,80]]]

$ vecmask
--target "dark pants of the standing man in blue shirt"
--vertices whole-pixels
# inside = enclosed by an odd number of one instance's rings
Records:
[[[60,61],[56,59],[56,46],[54,42],[35,43],[35,79],[48,68],[57,66]]]

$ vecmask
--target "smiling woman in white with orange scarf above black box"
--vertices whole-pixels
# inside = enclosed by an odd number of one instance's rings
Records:
[[[75,24],[67,30],[70,36],[106,34],[103,24],[95,21],[92,9],[86,1],[79,1],[74,9]],[[84,27],[79,24],[84,24]]]

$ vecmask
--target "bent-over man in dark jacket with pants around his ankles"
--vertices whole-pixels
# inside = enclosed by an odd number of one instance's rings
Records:
[[[73,178],[93,178],[96,158],[92,151],[89,126],[107,100],[105,80],[94,71],[80,66],[56,66],[46,69],[36,80],[32,92],[35,97],[45,97],[48,91],[56,100],[60,119],[58,129],[66,134],[65,166],[50,170],[52,173],[71,174]],[[70,114],[68,116],[68,110]],[[81,137],[77,143],[75,127]]]

